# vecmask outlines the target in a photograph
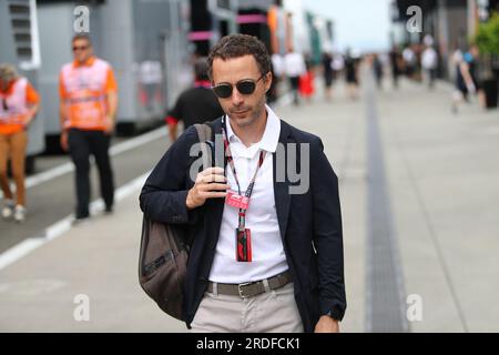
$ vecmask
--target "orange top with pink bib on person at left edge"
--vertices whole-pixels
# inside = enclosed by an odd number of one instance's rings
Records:
[[[9,134],[23,130],[28,112],[27,88],[28,80],[20,78],[12,84],[9,93],[0,91],[0,133]],[[7,128],[9,132],[6,131]]]

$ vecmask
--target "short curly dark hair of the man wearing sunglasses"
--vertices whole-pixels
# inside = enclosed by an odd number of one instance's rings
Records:
[[[271,55],[265,44],[256,37],[240,33],[223,37],[210,51],[207,59],[210,80],[213,81],[213,60],[215,58],[227,60],[248,54],[255,58],[262,75],[271,71]]]

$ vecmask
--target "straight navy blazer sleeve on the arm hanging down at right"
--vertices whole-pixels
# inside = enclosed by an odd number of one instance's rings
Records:
[[[320,312],[342,321],[346,296],[338,179],[319,139],[310,144],[310,174]]]

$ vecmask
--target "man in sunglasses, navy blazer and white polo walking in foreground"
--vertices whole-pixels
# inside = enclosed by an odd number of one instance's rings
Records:
[[[215,141],[223,140],[223,168],[189,173],[190,150],[198,142],[191,128],[140,196],[150,220],[184,225],[193,241],[184,286],[187,327],[338,332],[346,308],[342,216],[338,181],[322,141],[265,104],[271,59],[256,38],[224,37],[208,67],[225,112],[210,123]],[[303,144],[309,150],[292,158],[291,148]],[[295,166],[309,161],[301,171],[309,184],[292,195],[296,181],[276,175],[293,159]]]

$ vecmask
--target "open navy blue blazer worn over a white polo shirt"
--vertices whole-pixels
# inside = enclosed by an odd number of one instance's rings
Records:
[[[210,122],[214,134],[222,132],[221,121]],[[187,191],[194,185],[189,171],[196,159],[190,156],[190,149],[198,141],[195,128],[189,128],[154,168],[140,195],[141,209],[149,219],[182,225],[191,236],[184,288],[187,327],[207,287],[224,209],[223,199],[210,199],[192,211],[186,209]],[[338,180],[318,136],[281,121],[279,143],[309,144],[309,189],[305,193],[289,194],[295,183],[287,174],[285,181],[276,181],[275,153],[273,169],[277,219],[295,300],[305,332],[313,332],[320,315],[330,314],[342,321],[346,310]],[[299,168],[297,152],[295,166]]]

